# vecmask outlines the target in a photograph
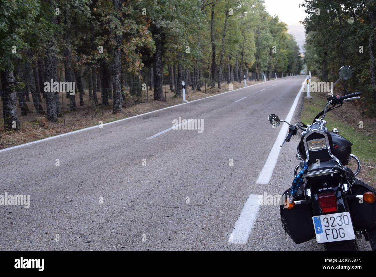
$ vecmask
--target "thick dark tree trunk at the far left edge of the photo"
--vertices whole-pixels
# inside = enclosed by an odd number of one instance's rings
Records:
[[[4,130],[20,130],[20,121],[17,115],[17,95],[15,92],[16,78],[13,70],[5,69],[2,71],[2,100],[3,100],[3,118]],[[14,128],[13,128],[14,127]]]

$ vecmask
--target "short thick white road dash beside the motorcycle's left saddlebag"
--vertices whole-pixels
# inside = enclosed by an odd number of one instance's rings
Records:
[[[240,216],[235,223],[232,233],[229,237],[229,243],[246,244],[253,224],[256,221],[258,211],[260,210],[259,197],[262,195],[251,194],[248,197]]]

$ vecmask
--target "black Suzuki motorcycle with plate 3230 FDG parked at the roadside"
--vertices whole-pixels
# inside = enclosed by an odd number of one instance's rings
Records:
[[[350,66],[339,70],[339,78],[348,80],[353,74]],[[333,87],[334,87],[333,86]],[[326,113],[341,107],[345,101],[360,98],[361,92],[332,96],[311,124],[299,121],[290,124],[277,115],[269,115],[269,122],[277,127],[288,124],[285,142],[301,130],[294,169],[294,180],[281,197],[280,216],[285,232],[295,243],[313,238],[323,243],[326,251],[356,251],[355,237],[364,236],[376,251],[376,190],[355,178],[361,162],[351,153],[352,142],[339,135],[339,130],[327,130]],[[346,165],[353,159],[357,169]]]

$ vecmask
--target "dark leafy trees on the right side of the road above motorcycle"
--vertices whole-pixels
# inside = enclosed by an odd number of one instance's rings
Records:
[[[341,66],[354,75],[342,81],[341,95],[362,92],[362,112],[376,116],[375,38],[376,1],[307,0],[305,62],[322,81],[335,81]]]

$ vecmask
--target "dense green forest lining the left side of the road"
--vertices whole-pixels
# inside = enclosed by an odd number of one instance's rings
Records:
[[[180,98],[182,81],[194,93],[303,64],[261,0],[2,0],[0,49],[5,131],[22,130],[30,113],[49,122],[85,105],[117,114],[145,91]],[[61,89],[72,82],[74,93]]]

